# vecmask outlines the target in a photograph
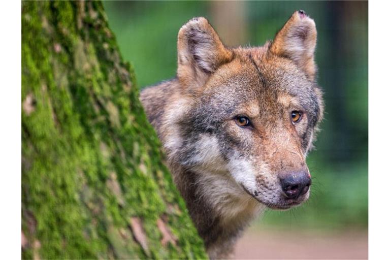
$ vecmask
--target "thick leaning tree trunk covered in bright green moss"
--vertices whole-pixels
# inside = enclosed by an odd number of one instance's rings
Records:
[[[23,258],[206,258],[101,2],[22,3]]]

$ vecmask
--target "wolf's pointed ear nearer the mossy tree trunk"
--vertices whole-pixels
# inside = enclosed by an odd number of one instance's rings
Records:
[[[211,73],[233,57],[203,17],[192,18],[181,27],[177,52],[179,80],[197,86],[203,85]]]

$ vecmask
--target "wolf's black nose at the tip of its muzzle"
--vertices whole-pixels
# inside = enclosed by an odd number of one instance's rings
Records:
[[[311,185],[311,179],[306,171],[290,173],[280,179],[282,189],[287,198],[298,198],[306,194]]]

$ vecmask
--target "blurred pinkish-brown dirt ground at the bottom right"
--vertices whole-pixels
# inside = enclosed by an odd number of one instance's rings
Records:
[[[238,241],[236,259],[367,259],[367,232],[250,231]]]

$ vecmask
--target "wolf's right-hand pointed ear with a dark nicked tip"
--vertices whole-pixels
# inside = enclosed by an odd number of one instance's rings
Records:
[[[276,34],[270,51],[293,60],[310,80],[315,80],[314,50],[317,30],[314,20],[296,11]]]

